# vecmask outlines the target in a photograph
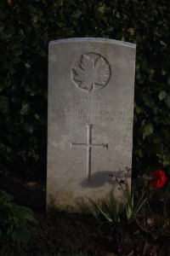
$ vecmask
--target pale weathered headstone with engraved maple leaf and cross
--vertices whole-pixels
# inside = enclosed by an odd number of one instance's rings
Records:
[[[47,203],[80,210],[122,195],[112,174],[131,168],[135,45],[52,41],[48,55]],[[130,178],[128,179],[130,185]]]

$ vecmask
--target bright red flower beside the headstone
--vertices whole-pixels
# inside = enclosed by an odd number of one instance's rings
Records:
[[[156,170],[152,173],[151,184],[154,188],[161,189],[167,182],[165,172]]]

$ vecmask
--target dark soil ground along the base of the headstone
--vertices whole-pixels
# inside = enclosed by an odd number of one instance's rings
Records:
[[[161,239],[151,241],[135,224],[114,225],[105,220],[99,223],[92,215],[80,213],[53,211],[46,214],[46,184],[36,181],[33,188],[27,188],[27,182],[20,177],[1,176],[0,189],[13,195],[16,204],[35,212],[37,237],[26,244],[0,243],[0,252],[3,248],[14,252],[13,256],[19,255],[20,250],[29,256],[170,255],[170,230],[167,235],[162,234]]]

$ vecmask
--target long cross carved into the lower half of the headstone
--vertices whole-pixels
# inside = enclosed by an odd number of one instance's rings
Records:
[[[92,143],[92,126],[88,126],[88,143],[71,143],[71,148],[75,147],[83,147],[87,148],[87,179],[91,181],[91,157],[92,157],[92,148],[106,148],[108,149],[108,144],[93,144]]]

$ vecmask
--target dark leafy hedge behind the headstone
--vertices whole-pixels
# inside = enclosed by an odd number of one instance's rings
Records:
[[[137,44],[133,166],[168,169],[169,9],[166,0],[2,0],[1,164],[30,175],[46,169],[48,42],[98,37]]]

